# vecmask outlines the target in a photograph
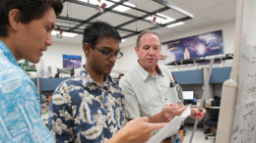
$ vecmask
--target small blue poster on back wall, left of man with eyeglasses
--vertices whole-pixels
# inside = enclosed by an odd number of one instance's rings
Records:
[[[63,55],[63,68],[76,69],[82,65],[82,56],[79,55]]]

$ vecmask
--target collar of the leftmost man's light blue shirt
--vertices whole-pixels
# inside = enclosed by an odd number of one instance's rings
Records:
[[[0,55],[5,56],[12,64],[19,67],[19,64],[15,59],[13,53],[2,40],[0,40]]]

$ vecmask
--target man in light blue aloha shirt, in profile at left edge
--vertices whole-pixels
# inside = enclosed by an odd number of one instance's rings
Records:
[[[62,7],[61,0],[0,1],[0,142],[54,142],[36,88],[17,61],[39,62]]]

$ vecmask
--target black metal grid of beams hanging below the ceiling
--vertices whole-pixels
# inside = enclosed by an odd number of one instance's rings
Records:
[[[109,7],[109,8],[106,8],[103,11],[103,13],[111,12],[111,13],[114,13],[114,14],[118,14],[118,15],[121,15],[121,16],[126,16],[126,17],[129,17],[129,18],[133,19],[133,20],[131,20],[129,22],[126,22],[124,24],[119,24],[119,25],[115,26],[118,30],[123,30],[123,31],[131,32],[131,34],[127,34],[127,35],[123,36],[122,38],[127,38],[127,37],[134,36],[134,35],[136,35],[136,34],[138,34],[138,33],[140,33],[142,31],[142,30],[141,31],[130,30],[130,29],[122,28],[122,26],[127,25],[127,24],[135,23],[136,21],[144,21],[144,22],[150,23],[151,21],[146,20],[145,18],[147,18],[147,17],[149,17],[151,15],[155,15],[156,16],[157,13],[160,13],[160,12],[168,10],[168,9],[172,9],[174,11],[177,11],[178,13],[183,14],[186,17],[178,19],[178,20],[170,22],[170,23],[167,23],[167,24],[156,24],[155,26],[153,26],[153,27],[151,27],[149,29],[157,29],[157,28],[160,28],[160,27],[168,25],[168,24],[176,24],[178,22],[183,22],[183,21],[190,20],[190,19],[192,19],[194,17],[190,13],[188,13],[188,12],[186,12],[186,11],[176,7],[176,6],[170,5],[170,4],[168,4],[167,2],[165,2],[163,0],[153,0],[153,1],[155,1],[155,2],[157,2],[157,3],[159,3],[159,4],[164,6],[163,8],[160,8],[159,10],[157,10],[155,12],[147,12],[147,11],[144,11],[144,10],[141,10],[141,9],[138,9],[138,8],[127,6],[127,5],[123,4],[126,0],[121,0],[119,2],[114,2],[112,0],[108,0],[108,1],[114,3],[114,5]],[[96,5],[89,4],[89,3],[86,3],[86,2],[77,1],[77,0],[64,0],[64,2],[71,2],[71,3],[76,3],[76,4],[79,4],[79,5],[84,5],[84,6],[96,8]],[[118,5],[123,5],[123,6],[131,8],[131,9],[135,9],[137,11],[144,12],[144,13],[146,13],[146,15],[144,15],[142,17],[136,17],[134,15],[130,15],[130,14],[126,14],[126,13],[121,13],[121,12],[112,10],[113,8],[117,7]],[[98,17],[100,15],[101,14],[97,13],[96,15],[90,17],[89,19],[87,19],[85,21],[84,20],[77,20],[77,19],[73,19],[73,18],[68,18],[68,17],[61,17],[61,16],[59,16],[58,19],[65,20],[65,21],[72,21],[72,22],[75,22],[75,23],[80,23],[80,24],[75,25],[74,27],[70,27],[70,29],[65,29],[64,31],[68,31],[68,32],[72,31],[72,32],[80,33],[81,34],[81,31],[76,31],[75,29],[80,27],[80,26],[82,26],[82,25],[84,25],[84,24],[90,23],[91,21],[96,19],[96,17]],[[159,17],[159,16],[157,16],[157,17]],[[83,34],[83,32],[82,32],[82,34]]]

